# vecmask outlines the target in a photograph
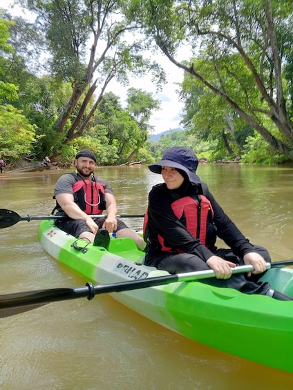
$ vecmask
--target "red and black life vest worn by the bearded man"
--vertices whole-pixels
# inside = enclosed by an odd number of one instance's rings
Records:
[[[106,210],[104,186],[95,181],[94,175],[92,180],[84,180],[75,172],[69,173],[69,175],[73,175],[76,179],[75,184],[73,184],[73,197],[79,208],[88,215],[102,214]],[[62,210],[59,204],[55,209]]]

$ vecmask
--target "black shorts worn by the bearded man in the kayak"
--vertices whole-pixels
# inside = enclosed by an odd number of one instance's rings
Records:
[[[93,220],[95,221],[97,226],[99,226],[100,229],[102,228],[106,220],[106,215],[104,217],[93,218]],[[56,220],[55,225],[76,238],[78,238],[79,235],[81,235],[85,231],[93,233],[86,224],[86,222],[84,222],[83,220],[71,220],[64,218],[64,220]],[[117,220],[117,229],[115,230],[115,233],[124,228],[128,228],[128,226],[126,226],[126,224],[124,224],[124,222],[122,222],[121,220]]]

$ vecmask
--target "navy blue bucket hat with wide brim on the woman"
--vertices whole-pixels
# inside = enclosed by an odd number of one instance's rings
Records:
[[[200,178],[196,175],[198,168],[198,157],[188,148],[173,146],[164,153],[162,159],[156,164],[149,165],[149,170],[153,173],[161,173],[162,166],[169,166],[183,170],[190,182],[200,184]]]

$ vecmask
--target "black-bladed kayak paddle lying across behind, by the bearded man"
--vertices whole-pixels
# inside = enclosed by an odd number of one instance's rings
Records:
[[[90,217],[105,217],[104,214],[89,215]],[[117,218],[139,218],[144,217],[144,214],[135,215],[135,214],[120,214],[116,215]],[[32,221],[32,220],[59,220],[65,218],[63,215],[48,215],[47,217],[31,217],[30,215],[26,217],[21,217],[15,211],[6,210],[5,208],[0,208],[0,228],[8,228],[13,226],[20,221]]]

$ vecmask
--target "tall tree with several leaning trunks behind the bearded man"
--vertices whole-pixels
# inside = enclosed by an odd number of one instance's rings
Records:
[[[116,77],[126,82],[129,72],[157,72],[144,60],[140,38],[124,36],[140,26],[129,19],[128,0],[28,0],[46,32],[52,54],[50,68],[59,81],[69,82],[72,93],[54,124],[53,153],[81,137],[106,87]],[[128,36],[129,38],[129,36]],[[98,89],[100,88],[100,90]]]

